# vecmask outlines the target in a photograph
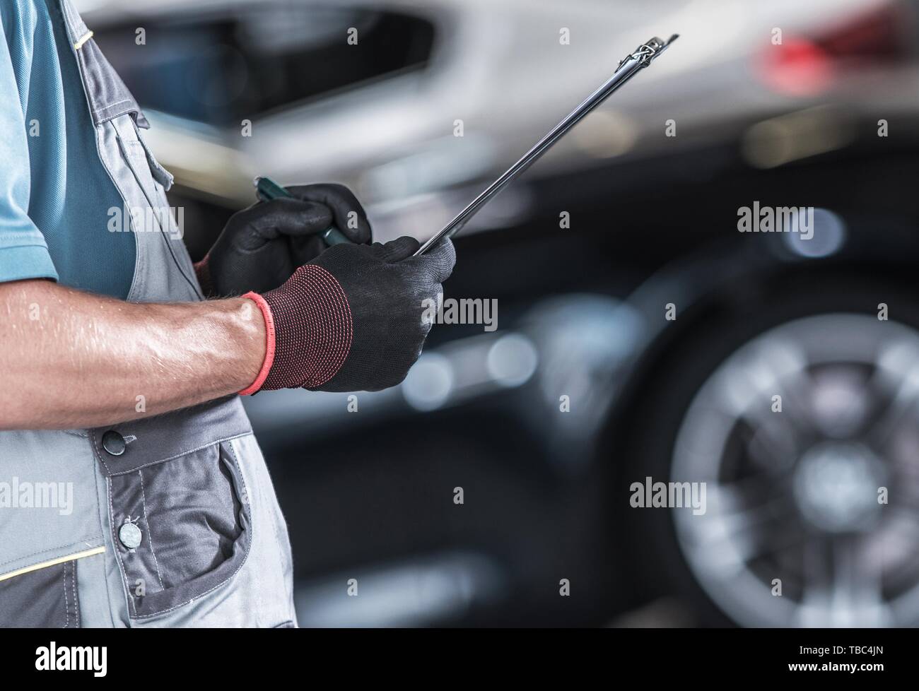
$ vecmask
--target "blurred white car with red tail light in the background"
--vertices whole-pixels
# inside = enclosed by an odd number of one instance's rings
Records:
[[[383,240],[443,226],[625,54],[669,27],[683,32],[677,57],[607,101],[530,179],[723,142],[828,86],[846,108],[861,108],[871,91],[907,96],[891,61],[880,73],[868,61],[856,80],[834,79],[845,59],[866,62],[866,42],[880,57],[903,50],[894,28],[867,41],[848,36],[843,20],[877,5],[665,0],[649,12],[642,2],[594,0],[84,3],[97,41],[142,95],[154,149],[192,198],[236,208],[251,202],[256,175],[336,179],[367,201]],[[838,47],[800,38],[827,17],[842,24]],[[670,119],[677,136],[664,137]],[[823,139],[811,146],[819,151]],[[751,150],[755,157],[755,142]],[[539,199],[523,189],[495,201],[471,230],[537,212]]]

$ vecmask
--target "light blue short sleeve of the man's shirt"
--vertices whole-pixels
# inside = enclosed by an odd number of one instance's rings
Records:
[[[28,217],[31,174],[23,93],[28,93],[30,61],[24,60],[23,37],[17,36],[22,31],[17,5],[5,0],[0,7],[0,282],[57,280],[44,235]]]

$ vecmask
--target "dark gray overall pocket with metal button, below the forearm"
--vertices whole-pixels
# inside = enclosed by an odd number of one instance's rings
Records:
[[[131,618],[208,595],[243,567],[252,514],[229,441],[250,433],[235,397],[92,431]]]

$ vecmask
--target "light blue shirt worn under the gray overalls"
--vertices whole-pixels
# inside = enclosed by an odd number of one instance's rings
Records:
[[[59,0],[0,2],[0,282],[53,278],[128,297],[132,232],[96,134]]]

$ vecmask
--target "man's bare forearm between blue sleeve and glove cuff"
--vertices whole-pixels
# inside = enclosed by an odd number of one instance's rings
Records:
[[[133,303],[0,284],[0,428],[110,425],[240,391],[265,358],[251,300]]]

